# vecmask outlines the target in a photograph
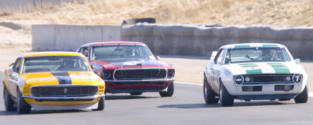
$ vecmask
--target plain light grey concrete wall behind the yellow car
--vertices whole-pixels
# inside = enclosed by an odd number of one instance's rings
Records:
[[[120,25],[32,25],[33,50],[70,50],[99,41],[119,41]]]

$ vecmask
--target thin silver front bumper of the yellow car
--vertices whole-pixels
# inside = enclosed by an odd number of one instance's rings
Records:
[[[42,96],[42,97],[36,97],[36,96],[26,96],[22,95],[24,98],[32,98],[32,99],[51,99],[51,100],[58,100],[58,99],[74,99],[74,100],[81,100],[81,99],[95,99],[97,97],[103,97],[105,94],[101,95],[94,95],[94,96],[76,96],[76,97],[57,97],[57,96]]]

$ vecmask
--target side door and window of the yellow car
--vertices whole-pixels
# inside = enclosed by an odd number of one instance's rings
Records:
[[[18,96],[17,94],[17,87],[19,83],[19,71],[21,70],[21,64],[22,63],[22,58],[19,57],[15,62],[12,67],[12,73],[9,73],[9,88],[11,91],[11,95],[16,98]]]

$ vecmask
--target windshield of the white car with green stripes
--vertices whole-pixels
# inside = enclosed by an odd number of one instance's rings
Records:
[[[228,49],[225,63],[291,61],[287,51],[280,47],[233,48]]]

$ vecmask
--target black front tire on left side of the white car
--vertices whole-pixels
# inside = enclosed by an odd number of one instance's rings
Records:
[[[219,80],[219,83],[219,101],[221,106],[231,106],[234,103],[234,97],[229,94],[221,80]]]

